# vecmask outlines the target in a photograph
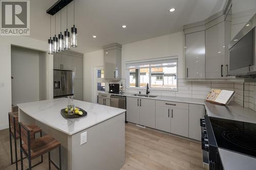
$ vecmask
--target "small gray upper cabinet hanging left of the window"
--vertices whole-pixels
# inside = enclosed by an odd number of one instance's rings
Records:
[[[105,79],[121,79],[121,48],[118,43],[103,46]]]

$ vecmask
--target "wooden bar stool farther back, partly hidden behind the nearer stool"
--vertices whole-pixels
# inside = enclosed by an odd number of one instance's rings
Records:
[[[14,113],[8,113],[9,117],[9,135],[10,135],[10,150],[11,150],[11,164],[16,164],[16,169],[18,169],[18,161],[17,160],[17,139],[19,139],[19,128],[18,128],[18,115]],[[35,137],[36,133],[40,133],[40,136],[42,136],[42,131],[39,127],[35,125],[29,125],[31,129],[33,129],[33,135]],[[13,155],[12,155],[12,138],[14,139],[14,148],[15,148],[15,162],[13,161]],[[42,157],[41,157],[42,160]]]

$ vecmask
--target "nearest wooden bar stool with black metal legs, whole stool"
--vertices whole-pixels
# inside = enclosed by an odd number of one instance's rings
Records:
[[[29,170],[42,162],[38,162],[35,165],[31,165],[31,160],[42,156],[48,152],[49,155],[49,169],[51,169],[51,163],[59,170],[61,170],[61,145],[60,142],[50,135],[46,135],[37,139],[33,138],[33,130],[24,123],[19,123],[19,143],[20,143],[20,163],[23,170],[23,153],[26,155],[29,161]],[[22,143],[24,142],[24,144]],[[59,148],[59,167],[51,160],[50,151]]]

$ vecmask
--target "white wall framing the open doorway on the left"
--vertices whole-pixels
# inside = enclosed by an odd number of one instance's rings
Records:
[[[1,36],[0,39],[0,130],[8,128],[8,112],[11,111],[11,44],[47,52],[47,42],[25,36]],[[47,58],[49,90],[48,96],[53,96],[53,58]]]

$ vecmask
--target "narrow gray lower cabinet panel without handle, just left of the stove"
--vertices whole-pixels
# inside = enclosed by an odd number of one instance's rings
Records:
[[[201,140],[200,118],[204,115],[204,105],[189,104],[189,138]]]

